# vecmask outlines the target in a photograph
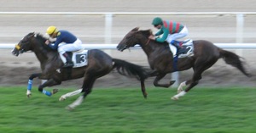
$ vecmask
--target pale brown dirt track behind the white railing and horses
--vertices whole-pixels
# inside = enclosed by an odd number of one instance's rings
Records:
[[[3,0],[0,2],[1,11],[58,11],[58,12],[247,12],[256,11],[254,0],[97,0],[97,1],[39,1],[39,0]],[[108,6],[106,6],[108,5]],[[0,43],[17,43],[20,38],[29,32],[44,33],[49,25],[56,25],[59,29],[71,30],[84,43],[104,43],[104,16],[102,15],[0,15]],[[111,43],[118,43],[132,28],[139,26],[141,29],[153,29],[150,25],[154,15],[115,15]],[[164,19],[180,21],[189,27],[188,38],[205,39],[211,42],[236,42],[236,16],[234,15],[160,15]],[[243,42],[255,43],[255,16],[247,15],[244,21]],[[156,31],[156,30],[154,30]],[[232,50],[247,60],[248,69],[256,75],[255,50]],[[121,58],[135,64],[148,66],[147,58],[141,50],[131,50],[120,53],[117,50],[108,50],[113,58]],[[139,55],[139,56],[138,56]],[[139,57],[139,58],[138,58]],[[15,57],[10,49],[0,50],[0,86],[26,86],[28,76],[40,72],[38,60],[33,53],[24,53]],[[180,81],[189,80],[192,70],[180,73]],[[163,82],[170,80],[171,75],[166,75]],[[153,86],[153,78],[147,80],[147,86]],[[246,76],[224,64],[222,59],[211,69],[203,74],[199,86],[255,86],[255,77],[248,79]],[[35,80],[34,85],[39,85],[40,80]],[[82,85],[82,79],[63,82],[61,86]],[[57,86],[57,87],[61,87]],[[96,81],[96,87],[108,86],[138,86],[137,80],[127,79],[113,72]]]

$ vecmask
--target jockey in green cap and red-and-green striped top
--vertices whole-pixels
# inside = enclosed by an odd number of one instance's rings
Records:
[[[177,39],[188,36],[189,30],[185,25],[173,21],[162,20],[156,17],[152,21],[152,25],[159,31],[154,36],[149,36],[149,39],[155,40],[156,42],[168,42],[177,48],[177,54],[183,53],[184,50],[180,46],[180,42]],[[155,36],[163,36],[161,38],[156,38]]]

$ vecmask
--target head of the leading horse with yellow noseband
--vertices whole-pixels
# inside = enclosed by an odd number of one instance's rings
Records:
[[[29,50],[32,50],[32,38],[35,36],[35,33],[29,33],[24,38],[20,40],[18,44],[15,45],[15,48],[12,50],[12,53],[15,56],[18,56],[21,53],[25,53]]]

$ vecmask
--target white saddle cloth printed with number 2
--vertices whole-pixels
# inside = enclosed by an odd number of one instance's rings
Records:
[[[185,40],[183,42],[182,47],[183,47],[183,49],[185,49],[185,52],[179,54],[178,58],[185,58],[185,57],[189,57],[189,56],[194,55],[194,53],[193,53],[194,52],[193,40],[191,40],[191,39]],[[173,53],[173,57],[176,57],[177,56],[177,48],[174,47],[173,45],[170,45],[170,49]]]

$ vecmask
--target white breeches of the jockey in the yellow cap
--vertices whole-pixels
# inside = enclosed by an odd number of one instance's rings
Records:
[[[79,39],[77,39],[73,43],[61,43],[61,44],[59,44],[58,52],[60,54],[63,54],[65,52],[79,51],[82,48],[83,48],[82,47],[82,42]]]

